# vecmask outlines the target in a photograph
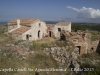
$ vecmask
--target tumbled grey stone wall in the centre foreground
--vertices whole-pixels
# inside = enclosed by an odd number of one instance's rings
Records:
[[[47,55],[51,55],[59,65],[67,65],[71,66],[72,64],[75,67],[79,67],[79,64],[77,63],[78,55],[79,55],[79,49],[75,48],[74,50],[71,50],[72,46],[65,46],[65,47],[50,47],[50,48],[44,48],[44,53]],[[78,66],[76,66],[76,64]]]

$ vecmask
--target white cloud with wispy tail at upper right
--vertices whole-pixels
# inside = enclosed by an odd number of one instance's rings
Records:
[[[67,8],[72,9],[78,13],[78,18],[100,18],[100,10],[94,8],[86,8],[82,7],[81,9],[77,9],[71,6],[67,6]]]

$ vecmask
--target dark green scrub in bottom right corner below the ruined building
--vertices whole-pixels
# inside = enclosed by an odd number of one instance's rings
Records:
[[[87,69],[85,75],[100,75],[100,62],[96,62],[97,60],[100,60],[99,53],[83,54],[81,59],[84,61],[84,63],[81,64],[81,68]]]

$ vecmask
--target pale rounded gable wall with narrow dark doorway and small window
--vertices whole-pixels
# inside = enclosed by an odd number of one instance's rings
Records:
[[[39,25],[40,23],[40,25]],[[37,21],[31,25],[32,40],[42,39],[46,35],[46,24],[42,21]],[[40,31],[40,32],[39,32]],[[39,34],[38,34],[39,33]],[[39,37],[38,37],[39,35]]]

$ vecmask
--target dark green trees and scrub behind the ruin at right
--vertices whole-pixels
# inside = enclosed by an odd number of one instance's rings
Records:
[[[100,39],[100,24],[72,23],[72,31],[76,32],[77,30],[91,33],[92,41]]]

